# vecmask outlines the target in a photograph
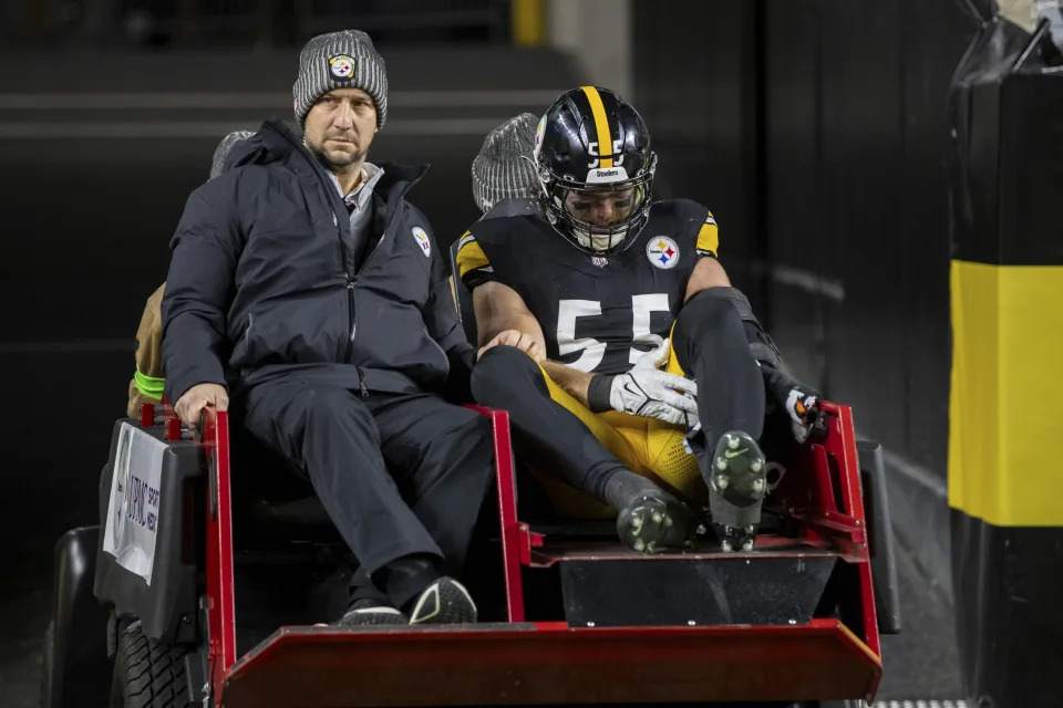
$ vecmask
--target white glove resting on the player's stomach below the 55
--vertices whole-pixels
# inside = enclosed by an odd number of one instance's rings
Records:
[[[656,350],[643,354],[627,374],[612,377],[609,405],[613,410],[690,426],[691,417],[696,418],[698,415],[698,400],[694,398],[698,384],[657,369],[668,361],[670,351],[671,342],[664,340]]]

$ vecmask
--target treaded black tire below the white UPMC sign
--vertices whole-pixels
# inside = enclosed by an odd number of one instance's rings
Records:
[[[134,622],[118,639],[111,708],[186,708],[188,649],[152,642]]]

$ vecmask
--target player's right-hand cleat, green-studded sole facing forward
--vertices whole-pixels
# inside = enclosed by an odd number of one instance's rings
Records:
[[[767,464],[749,434],[729,430],[716,442],[709,471],[709,511],[724,552],[752,551],[767,494]]]

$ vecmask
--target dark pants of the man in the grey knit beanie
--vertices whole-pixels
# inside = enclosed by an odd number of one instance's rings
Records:
[[[252,387],[240,408],[247,430],[309,478],[359,561],[357,585],[389,566],[401,582],[411,558],[461,572],[494,477],[488,418],[431,394],[362,397],[297,378]],[[376,584],[396,605],[419,590],[395,597]]]

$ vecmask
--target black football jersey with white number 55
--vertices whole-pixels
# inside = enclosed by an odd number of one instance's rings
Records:
[[[458,242],[472,291],[513,288],[539,321],[547,356],[584,372],[619,374],[669,336],[699,258],[715,257],[716,222],[687,199],[653,205],[620,253],[592,257],[537,216],[477,221]]]

